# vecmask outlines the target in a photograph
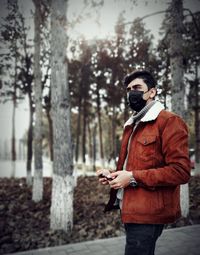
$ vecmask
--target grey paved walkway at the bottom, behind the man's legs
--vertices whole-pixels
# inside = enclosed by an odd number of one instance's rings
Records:
[[[12,255],[123,255],[125,237],[99,239]],[[166,229],[158,239],[156,255],[200,255],[200,225]],[[11,255],[11,254],[10,254]]]

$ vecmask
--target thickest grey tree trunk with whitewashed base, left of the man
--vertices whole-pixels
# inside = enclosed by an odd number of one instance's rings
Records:
[[[53,120],[53,186],[51,229],[69,232],[73,226],[73,152],[68,85],[67,0],[52,1],[51,16],[51,113]]]

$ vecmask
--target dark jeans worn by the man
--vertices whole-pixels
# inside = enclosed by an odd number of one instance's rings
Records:
[[[125,255],[154,255],[156,240],[163,231],[163,224],[125,223]]]

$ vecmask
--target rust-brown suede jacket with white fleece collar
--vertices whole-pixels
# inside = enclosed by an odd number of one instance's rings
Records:
[[[180,184],[190,178],[188,130],[179,116],[162,110],[159,104],[143,117],[129,144],[126,170],[133,172],[138,187],[124,189],[121,210],[124,223],[165,224],[181,216]],[[123,169],[132,130],[128,121],[117,170]],[[113,209],[115,201],[116,190],[111,189],[105,211]]]

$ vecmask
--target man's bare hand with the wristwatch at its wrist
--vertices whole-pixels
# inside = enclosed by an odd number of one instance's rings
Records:
[[[113,189],[125,188],[130,184],[130,179],[133,176],[132,172],[117,171],[110,174],[114,180],[109,181],[110,187]]]

